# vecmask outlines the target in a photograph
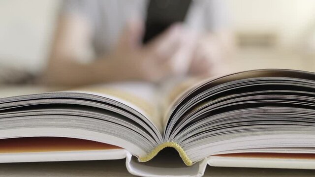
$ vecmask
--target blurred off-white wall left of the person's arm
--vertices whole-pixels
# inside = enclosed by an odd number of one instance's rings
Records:
[[[0,65],[40,69],[57,8],[57,0],[0,0]]]

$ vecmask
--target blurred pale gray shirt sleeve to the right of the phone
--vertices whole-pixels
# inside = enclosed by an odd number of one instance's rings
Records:
[[[225,0],[206,0],[206,29],[216,32],[231,26],[230,11]]]

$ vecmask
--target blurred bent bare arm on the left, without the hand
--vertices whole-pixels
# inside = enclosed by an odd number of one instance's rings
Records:
[[[85,18],[62,16],[43,82],[49,85],[77,86],[115,80],[111,59],[89,63],[79,61],[82,51],[89,47],[91,37],[91,25]]]

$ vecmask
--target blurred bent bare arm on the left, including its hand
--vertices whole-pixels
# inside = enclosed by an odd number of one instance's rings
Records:
[[[85,18],[61,18],[43,82],[61,86],[123,80],[158,82],[175,74],[170,59],[180,48],[180,27],[175,25],[142,46],[143,24],[130,21],[110,54],[83,63],[79,60],[82,51],[91,47],[91,31]]]

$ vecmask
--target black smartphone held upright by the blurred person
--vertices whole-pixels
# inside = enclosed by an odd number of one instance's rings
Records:
[[[143,43],[163,32],[176,22],[183,22],[191,0],[150,0]]]

